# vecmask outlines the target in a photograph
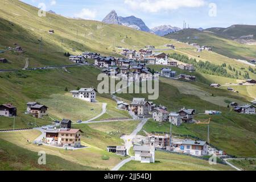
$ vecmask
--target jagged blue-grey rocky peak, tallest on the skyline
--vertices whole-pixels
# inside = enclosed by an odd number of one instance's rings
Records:
[[[108,15],[106,15],[102,22],[108,24],[120,24],[126,27],[134,28],[136,30],[151,32],[150,28],[146,26],[142,19],[139,19],[135,16],[118,16],[115,10],[112,10]]]

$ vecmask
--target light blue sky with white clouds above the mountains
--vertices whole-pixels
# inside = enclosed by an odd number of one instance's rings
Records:
[[[255,0],[22,0],[32,6],[68,17],[101,21],[115,10],[118,16],[134,15],[149,28],[160,25],[190,28],[256,24]]]

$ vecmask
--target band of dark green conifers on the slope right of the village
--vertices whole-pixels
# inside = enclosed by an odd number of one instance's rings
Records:
[[[169,55],[172,59],[176,59],[178,61],[181,61],[183,63],[187,64],[193,64],[193,66],[197,69],[199,72],[207,73],[210,75],[218,75],[218,76],[224,76],[224,77],[230,77],[234,78],[233,75],[230,75],[225,69],[226,64],[222,65],[216,65],[212,64],[209,61],[197,61],[196,59],[189,59],[188,56],[185,55],[179,55],[178,53],[172,53]]]

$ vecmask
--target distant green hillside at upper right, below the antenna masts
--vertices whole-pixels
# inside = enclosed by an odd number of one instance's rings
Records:
[[[256,57],[256,46],[240,44],[209,31],[199,31],[189,28],[168,34],[164,37],[176,39],[184,43],[190,42],[197,43],[200,46],[209,46],[213,48],[214,52],[233,59],[252,60]]]

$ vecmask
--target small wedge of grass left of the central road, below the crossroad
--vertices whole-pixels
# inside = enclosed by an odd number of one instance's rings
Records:
[[[89,123],[88,126],[94,130],[99,130],[110,135],[121,137],[129,135],[137,127],[139,121],[119,121],[105,123]]]

